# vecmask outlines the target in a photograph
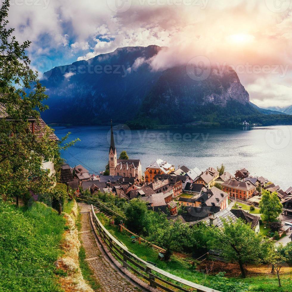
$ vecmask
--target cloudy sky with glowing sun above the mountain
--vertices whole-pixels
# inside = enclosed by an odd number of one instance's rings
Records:
[[[107,1],[50,0],[47,7],[14,5],[9,20],[18,41],[33,42],[28,51],[32,59],[58,58],[59,65],[73,58],[88,60],[118,47],[150,44],[168,47],[145,60],[153,70],[186,64],[196,56],[209,58],[212,65],[236,68],[247,68],[247,63],[261,68],[288,65],[282,78],[272,73],[238,74],[251,98],[261,106],[275,103],[276,96],[277,105],[292,104],[291,7],[274,13],[274,0],[131,3],[123,13],[111,10]],[[242,41],[243,35],[252,41]],[[140,61],[132,69],[140,66]]]

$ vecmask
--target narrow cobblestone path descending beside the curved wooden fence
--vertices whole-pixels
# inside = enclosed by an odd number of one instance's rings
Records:
[[[130,292],[130,291],[141,291],[135,287],[134,284],[130,283],[124,278],[111,263],[105,258],[105,255],[100,250],[93,231],[90,225],[89,212],[91,206],[84,203],[78,203],[80,207],[80,213],[82,216],[82,229],[79,232],[82,240],[82,245],[85,249],[86,261],[89,267],[94,272],[98,283],[100,284],[101,292]]]

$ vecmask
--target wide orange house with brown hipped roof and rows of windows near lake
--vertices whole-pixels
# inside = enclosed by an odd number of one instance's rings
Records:
[[[239,198],[241,200],[248,200],[254,196],[256,185],[251,181],[240,181],[237,178],[229,179],[221,184],[223,191],[229,193],[231,198]]]

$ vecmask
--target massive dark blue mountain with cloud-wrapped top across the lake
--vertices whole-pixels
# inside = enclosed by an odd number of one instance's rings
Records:
[[[234,71],[209,68],[195,81],[186,66],[154,71],[149,63],[161,47],[125,47],[44,73],[49,99],[47,123],[108,124],[110,119],[140,127],[199,124],[238,125],[263,115],[249,102]],[[231,123],[231,124],[230,124]]]

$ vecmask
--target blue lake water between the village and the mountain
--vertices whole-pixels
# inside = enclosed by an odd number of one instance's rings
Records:
[[[108,162],[110,128],[55,127],[61,138],[79,138],[75,146],[62,151],[69,165],[83,164],[99,174]],[[292,185],[292,126],[258,127],[250,131],[234,129],[154,129],[114,128],[117,155],[126,150],[130,159],[140,159],[142,172],[158,158],[189,168],[217,167],[234,174],[245,167],[279,184],[285,191]]]

